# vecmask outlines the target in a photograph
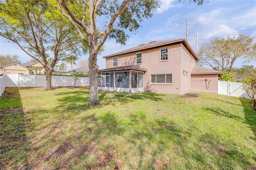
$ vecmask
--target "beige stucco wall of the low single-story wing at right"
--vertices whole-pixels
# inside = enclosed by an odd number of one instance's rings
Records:
[[[206,82],[205,79],[207,79]],[[206,89],[206,83],[208,89]],[[191,91],[218,93],[218,74],[191,75]]]

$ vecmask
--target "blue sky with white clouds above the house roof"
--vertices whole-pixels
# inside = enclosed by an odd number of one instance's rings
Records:
[[[186,20],[188,19],[188,43],[196,51],[196,32],[198,32],[198,48],[209,43],[216,37],[228,38],[242,33],[254,36],[256,42],[256,1],[255,0],[209,0],[202,6],[186,0],[162,0],[162,8],[158,9],[153,18],[144,20],[142,27],[136,34],[126,32],[130,38],[126,45],[116,44],[114,39],[108,39],[104,44],[104,51],[98,55],[97,64],[100,69],[106,67],[102,57],[130,47],[156,40],[171,40],[186,38]],[[99,25],[102,21],[98,20]],[[19,55],[22,63],[31,58],[18,45],[0,41],[2,55]],[[88,59],[88,54],[80,56]],[[249,63],[256,66],[256,61]],[[234,66],[240,67],[242,61],[236,61]]]

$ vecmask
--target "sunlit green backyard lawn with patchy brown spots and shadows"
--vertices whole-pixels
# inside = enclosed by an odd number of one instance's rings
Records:
[[[6,88],[1,169],[256,169],[256,111],[210,93]]]

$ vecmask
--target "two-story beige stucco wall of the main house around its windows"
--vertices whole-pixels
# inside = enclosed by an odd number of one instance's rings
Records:
[[[162,47],[168,47],[167,61],[160,61],[160,48]],[[190,56],[190,52],[182,43],[164,45],[162,47],[118,55],[117,67],[136,64],[136,53],[141,52],[142,63],[139,65],[147,69],[144,73],[144,91],[181,95],[189,92],[190,72],[192,70],[190,66],[191,63],[196,65],[194,57]],[[106,68],[113,67],[112,58],[106,58]],[[184,76],[183,70],[188,71],[189,75]],[[172,84],[151,84],[150,77],[152,74],[172,74]]]

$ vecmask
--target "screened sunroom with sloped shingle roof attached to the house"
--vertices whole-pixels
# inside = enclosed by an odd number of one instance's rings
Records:
[[[137,65],[113,67],[98,71],[98,89],[136,93],[143,91],[145,68]]]

